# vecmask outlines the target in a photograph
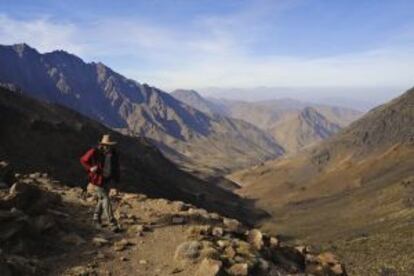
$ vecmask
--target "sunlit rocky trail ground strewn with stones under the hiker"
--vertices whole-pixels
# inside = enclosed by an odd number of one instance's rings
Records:
[[[113,233],[91,224],[92,190],[41,173],[12,182],[0,189],[0,275],[346,275],[330,253],[180,201],[112,195]]]

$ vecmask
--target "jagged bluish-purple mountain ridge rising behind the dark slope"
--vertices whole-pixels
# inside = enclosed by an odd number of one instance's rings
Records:
[[[0,60],[0,83],[151,138],[170,159],[194,172],[223,174],[283,153],[251,124],[204,114],[101,63],[85,63],[64,51],[40,54],[25,44],[0,46]]]

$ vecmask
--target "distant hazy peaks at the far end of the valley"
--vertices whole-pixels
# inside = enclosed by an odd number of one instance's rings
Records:
[[[203,112],[249,122],[271,134],[287,153],[330,137],[361,115],[348,108],[291,99],[266,102],[205,99],[193,90],[176,90],[171,95]]]

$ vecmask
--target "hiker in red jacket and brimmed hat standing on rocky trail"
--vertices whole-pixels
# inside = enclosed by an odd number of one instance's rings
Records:
[[[93,185],[98,197],[93,222],[100,228],[103,212],[114,231],[119,230],[119,226],[112,212],[109,189],[113,184],[118,184],[120,178],[119,160],[114,148],[115,145],[116,142],[111,141],[110,135],[103,135],[99,145],[89,149],[80,159],[81,164],[88,172],[89,183]]]

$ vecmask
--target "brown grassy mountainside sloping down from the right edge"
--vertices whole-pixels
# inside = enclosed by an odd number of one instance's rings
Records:
[[[383,264],[405,275],[399,269],[414,263],[398,256],[414,259],[413,168],[411,89],[318,145],[231,178],[272,213],[264,228],[326,242],[358,264],[355,275]]]

